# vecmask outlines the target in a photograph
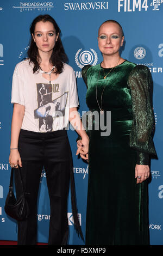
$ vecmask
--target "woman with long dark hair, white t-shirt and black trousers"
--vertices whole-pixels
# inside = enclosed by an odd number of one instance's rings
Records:
[[[77,112],[76,77],[71,66],[66,64],[67,56],[57,23],[49,15],[40,15],[32,22],[30,34],[28,59],[16,65],[11,96],[14,111],[9,163],[21,170],[30,212],[27,220],[18,222],[18,245],[35,245],[37,241],[37,193],[43,166],[51,204],[48,244],[66,245],[70,182],[74,225],[83,237],[66,133],[69,121],[83,139],[85,154],[89,138]],[[15,186],[17,197],[20,197],[17,173]]]

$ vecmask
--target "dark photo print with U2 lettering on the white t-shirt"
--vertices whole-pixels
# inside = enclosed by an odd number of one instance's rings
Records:
[[[38,108],[34,110],[34,117],[39,119],[40,132],[53,131],[53,122],[57,121],[59,117],[65,116],[68,92],[53,100],[52,86],[55,86],[55,92],[59,92],[59,84],[57,86],[47,83],[36,84]]]

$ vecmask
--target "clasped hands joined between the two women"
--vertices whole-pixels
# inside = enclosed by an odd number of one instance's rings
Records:
[[[89,137],[86,136],[82,139],[79,139],[77,141],[77,153],[76,155],[80,154],[80,156],[82,157],[82,159],[84,160],[89,160]]]

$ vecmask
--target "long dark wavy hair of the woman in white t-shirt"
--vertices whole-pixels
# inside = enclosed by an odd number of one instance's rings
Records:
[[[39,56],[38,48],[37,48],[37,46],[34,42],[33,36],[32,36],[32,34],[34,34],[34,31],[35,31],[36,23],[39,22],[39,21],[43,21],[43,22],[49,21],[49,22],[51,22],[54,26],[55,33],[56,34],[59,33],[58,40],[57,40],[57,42],[55,42],[55,46],[53,48],[53,52],[52,52],[52,55],[51,55],[51,58],[50,58],[49,62],[53,66],[55,66],[55,68],[56,68],[55,73],[60,74],[64,69],[64,63],[68,62],[68,58],[67,58],[67,55],[65,53],[64,47],[62,45],[61,39],[60,39],[60,32],[61,32],[60,28],[58,27],[55,20],[48,14],[37,16],[33,20],[32,24],[30,25],[31,38],[30,38],[29,50],[27,52],[28,58],[30,59],[29,63],[33,62],[33,64],[34,64],[33,72],[34,73],[36,71],[37,72],[39,71],[40,63],[38,61],[39,61],[39,59],[41,60],[41,57]]]

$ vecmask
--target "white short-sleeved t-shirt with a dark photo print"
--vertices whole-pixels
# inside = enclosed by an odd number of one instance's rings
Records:
[[[64,71],[49,84],[40,71],[33,74],[33,64],[28,60],[18,63],[12,78],[11,103],[25,106],[23,130],[64,129],[68,126],[69,109],[79,105],[73,69],[64,64]]]

